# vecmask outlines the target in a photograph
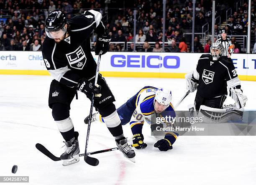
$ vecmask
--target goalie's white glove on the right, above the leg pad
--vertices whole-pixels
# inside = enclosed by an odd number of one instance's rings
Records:
[[[241,89],[233,89],[230,88],[229,90],[229,96],[236,101],[236,107],[238,109],[241,109],[245,106],[247,99],[247,96],[243,95],[243,91]]]

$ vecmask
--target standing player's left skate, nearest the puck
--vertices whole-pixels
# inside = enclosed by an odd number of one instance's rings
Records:
[[[60,158],[62,160],[62,165],[72,165],[76,162],[79,162],[79,144],[78,144],[78,132],[75,132],[75,137],[70,139],[66,144],[66,150],[61,154]]]

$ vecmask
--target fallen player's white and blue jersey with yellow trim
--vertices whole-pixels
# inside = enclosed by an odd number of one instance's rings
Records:
[[[156,124],[156,113],[154,109],[154,99],[158,88],[152,86],[145,86],[137,94],[128,99],[125,104],[117,109],[118,115],[121,119],[121,124],[130,124],[131,131],[133,134],[142,132],[144,122],[148,124]],[[174,106],[172,103],[162,112],[158,114],[159,117],[175,117]],[[104,120],[100,117],[100,121]],[[167,123],[167,122],[166,122]],[[171,141],[177,139],[178,134],[175,132],[165,132],[165,137]],[[171,137],[171,138],[170,138]],[[173,142],[172,142],[173,144]]]

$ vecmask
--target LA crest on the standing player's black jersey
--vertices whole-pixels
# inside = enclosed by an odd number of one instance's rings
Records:
[[[69,61],[69,65],[72,68],[83,69],[86,62],[86,56],[81,46],[79,46],[75,51],[67,53],[66,56]]]

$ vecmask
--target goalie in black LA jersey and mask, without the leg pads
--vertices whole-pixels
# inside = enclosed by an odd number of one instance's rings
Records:
[[[210,52],[203,54],[196,69],[185,76],[187,89],[190,92],[197,89],[196,110],[199,111],[201,105],[221,109],[228,94],[227,86],[229,95],[236,101],[236,107],[244,107],[247,97],[243,95],[233,63],[223,57],[223,45],[213,43]]]

